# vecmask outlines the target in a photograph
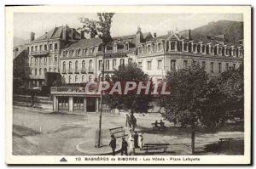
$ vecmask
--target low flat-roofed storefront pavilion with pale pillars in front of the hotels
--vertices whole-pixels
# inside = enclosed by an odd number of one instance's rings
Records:
[[[51,87],[56,112],[98,112],[99,94],[88,94],[80,87]]]

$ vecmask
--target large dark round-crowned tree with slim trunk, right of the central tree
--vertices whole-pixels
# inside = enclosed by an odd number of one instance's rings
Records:
[[[212,127],[223,118],[224,93],[218,81],[210,79],[204,67],[191,65],[187,69],[168,72],[171,94],[160,99],[166,120],[191,128],[191,149],[195,153],[195,127]]]

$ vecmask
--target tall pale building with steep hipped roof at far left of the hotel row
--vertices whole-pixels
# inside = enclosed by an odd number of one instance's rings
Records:
[[[79,33],[67,25],[55,27],[36,39],[35,33],[31,32],[31,42],[26,44],[28,51],[28,59],[26,60],[28,86],[41,87],[44,85],[44,74],[46,72],[60,72],[61,48],[79,39]]]

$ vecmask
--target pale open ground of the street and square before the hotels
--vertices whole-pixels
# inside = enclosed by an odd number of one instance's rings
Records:
[[[76,145],[90,140],[95,142],[96,128],[98,127],[98,115],[89,113],[86,115],[67,115],[54,113],[39,113],[24,108],[14,108],[14,155],[84,155],[76,149]],[[168,143],[168,155],[190,154],[189,129],[173,127],[167,121],[167,130],[164,132],[153,131],[151,123],[160,121],[161,116],[155,114],[135,115],[137,117],[138,132],[143,133],[144,144]],[[103,114],[102,128],[103,140],[109,139],[109,128],[125,127],[125,113],[120,115]],[[129,127],[125,127],[126,133]],[[150,138],[150,139],[149,139]],[[206,144],[217,143],[219,138],[243,139],[241,127],[236,125],[221,128],[218,132],[199,132],[195,137],[195,147],[201,154],[213,154],[205,152]],[[108,144],[108,143],[103,143]],[[110,148],[109,148],[110,149]],[[144,152],[138,152],[138,154]]]

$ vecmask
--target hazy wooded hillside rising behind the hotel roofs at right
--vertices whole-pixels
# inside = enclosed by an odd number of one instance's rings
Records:
[[[191,31],[193,38],[205,38],[207,35],[216,36],[225,34],[226,37],[233,40],[243,39],[243,22],[218,20],[217,22],[210,22],[207,25],[195,28]]]

